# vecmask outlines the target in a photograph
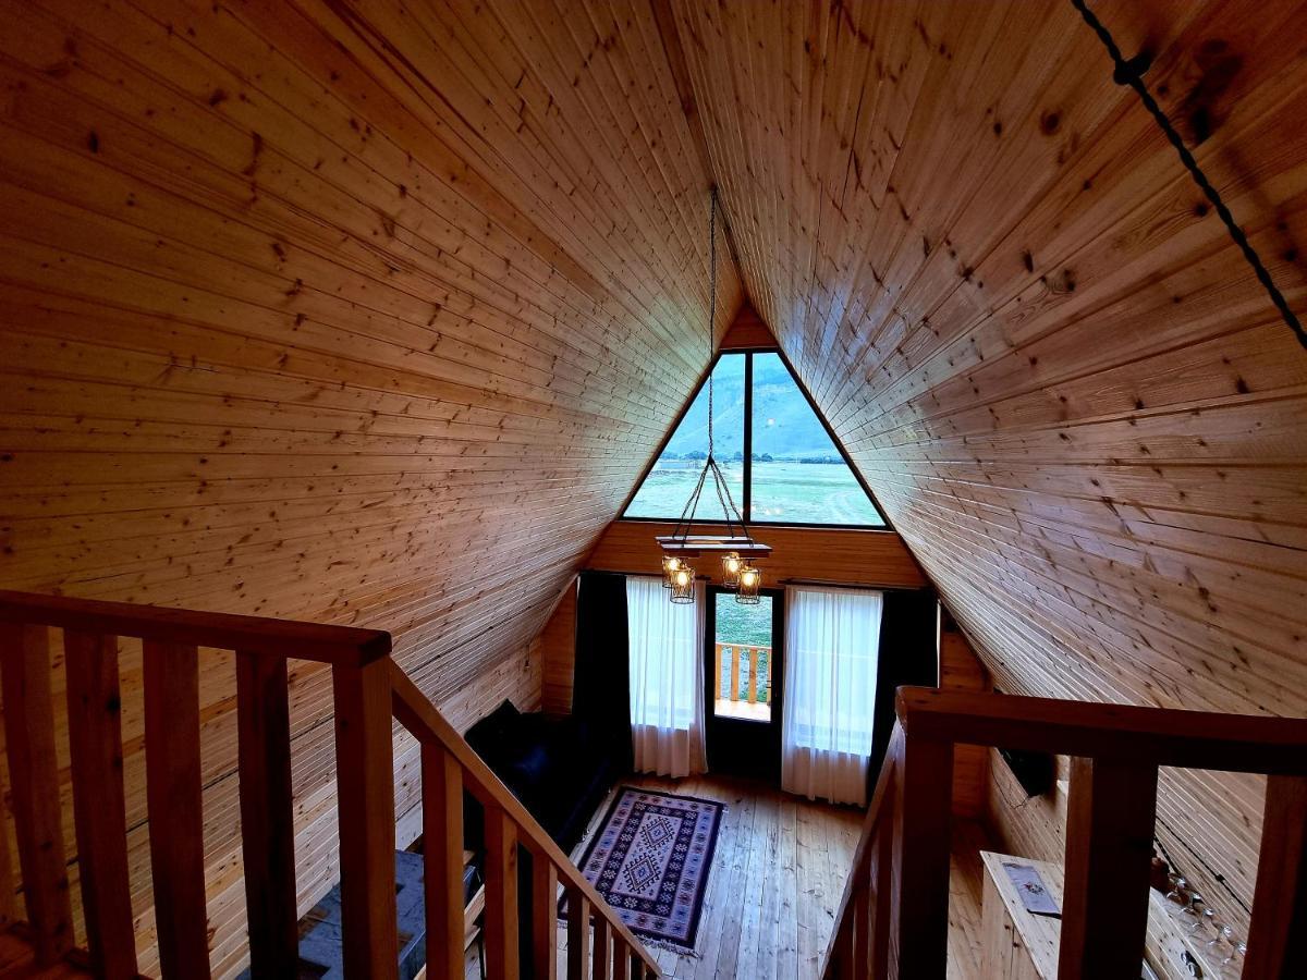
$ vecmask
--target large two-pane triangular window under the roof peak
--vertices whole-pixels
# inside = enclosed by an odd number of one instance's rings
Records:
[[[869,491],[780,354],[721,354],[712,383],[715,453],[745,520],[885,527]],[[701,385],[622,516],[678,520],[707,455],[708,392]],[[703,494],[697,520],[723,520],[723,506],[712,497]]]

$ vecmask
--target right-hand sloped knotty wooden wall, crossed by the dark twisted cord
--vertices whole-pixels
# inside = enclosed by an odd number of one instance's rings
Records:
[[[1302,4],[1093,7],[1302,315]],[[1070,3],[674,9],[750,297],[995,682],[1307,715],[1307,353]],[[1235,921],[1260,793],[1163,775]]]

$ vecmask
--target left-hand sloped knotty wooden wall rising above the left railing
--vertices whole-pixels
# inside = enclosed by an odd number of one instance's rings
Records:
[[[529,707],[528,644],[708,359],[711,180],[654,12],[0,18],[0,584],[378,626],[461,723]],[[293,683],[308,903],[329,685]],[[205,676],[213,887],[239,900],[231,691]],[[131,819],[140,843],[142,794]],[[243,917],[213,928],[225,971]]]

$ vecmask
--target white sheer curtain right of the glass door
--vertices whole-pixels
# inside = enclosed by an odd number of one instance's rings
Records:
[[[880,640],[880,592],[786,589],[784,789],[867,805]]]

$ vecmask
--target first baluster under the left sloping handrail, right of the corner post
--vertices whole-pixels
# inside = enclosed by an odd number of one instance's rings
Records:
[[[463,770],[435,742],[422,743],[422,874],[427,976],[463,972]]]

